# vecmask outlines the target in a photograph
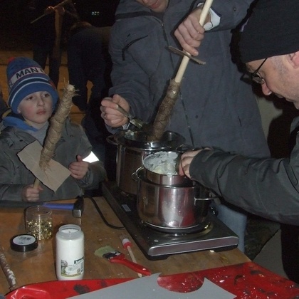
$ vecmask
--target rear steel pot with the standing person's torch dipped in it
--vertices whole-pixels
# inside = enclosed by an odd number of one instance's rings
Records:
[[[116,183],[123,192],[137,194],[137,182],[132,174],[142,167],[142,159],[152,152],[174,150],[184,145],[184,137],[175,132],[164,132],[161,140],[147,141],[142,131],[122,130],[107,138],[117,145]]]

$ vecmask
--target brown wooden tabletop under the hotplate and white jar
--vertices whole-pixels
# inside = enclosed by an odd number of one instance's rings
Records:
[[[100,210],[110,224],[122,226],[115,216],[109,204],[103,197],[96,197]],[[68,202],[68,201],[63,201]],[[70,201],[73,202],[73,201]],[[25,233],[23,220],[23,209],[21,208],[1,208],[1,246],[4,248],[6,260],[11,271],[14,272],[19,286],[31,283],[40,283],[56,280],[55,272],[55,234],[63,224],[78,224],[85,234],[85,274],[84,279],[98,278],[137,278],[137,273],[120,264],[114,264],[105,258],[94,255],[95,250],[103,246],[113,248],[125,253],[128,259],[130,256],[122,248],[120,234],[124,230],[111,229],[103,223],[98,211],[96,211],[90,199],[85,198],[85,210],[81,218],[72,216],[71,211],[53,210],[54,236],[46,241],[39,241],[38,248],[34,251],[20,253],[12,251],[10,239],[17,234]],[[184,273],[199,271],[208,268],[229,266],[236,263],[250,261],[237,248],[230,251],[197,251],[194,253],[182,253],[169,256],[165,260],[150,261],[143,255],[140,248],[132,240],[132,250],[135,253],[137,263],[150,269],[152,273],[162,273],[164,275],[174,273]],[[9,292],[9,283],[0,270],[0,293]]]

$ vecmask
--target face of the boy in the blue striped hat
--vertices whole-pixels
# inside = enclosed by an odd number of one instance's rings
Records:
[[[18,112],[36,129],[40,129],[48,122],[53,112],[53,101],[47,91],[37,91],[27,95],[18,107]]]

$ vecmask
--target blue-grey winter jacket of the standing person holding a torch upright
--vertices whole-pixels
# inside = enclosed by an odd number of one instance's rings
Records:
[[[158,17],[137,1],[120,1],[110,36],[110,95],[122,95],[136,117],[154,120],[182,61],[168,50],[168,46],[180,48],[173,31],[199,2],[171,0]],[[206,65],[192,61],[187,65],[167,127],[183,135],[188,145],[214,146],[252,157],[269,155],[251,85],[241,80],[242,73],[231,58],[231,29],[246,16],[251,2],[213,2],[221,23],[205,33],[199,48],[198,58]]]

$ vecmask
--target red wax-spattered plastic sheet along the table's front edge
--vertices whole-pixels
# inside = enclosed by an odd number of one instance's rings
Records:
[[[199,289],[204,278],[235,294],[238,299],[299,298],[299,285],[253,262],[192,273],[160,276],[158,283],[167,290],[188,293]],[[6,295],[6,299],[65,299],[131,279],[133,278],[36,283],[14,290]]]

